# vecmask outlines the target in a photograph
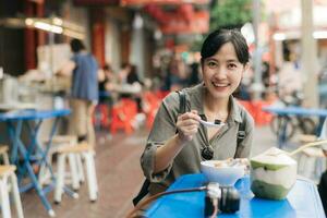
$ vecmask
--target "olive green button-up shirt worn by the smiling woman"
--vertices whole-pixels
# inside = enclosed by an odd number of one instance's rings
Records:
[[[186,95],[186,109],[197,110],[198,114],[204,114],[203,97],[205,86],[203,84],[191,88],[184,88]],[[177,133],[177,118],[179,114],[180,97],[178,93],[169,94],[161,102],[149,133],[145,150],[141,157],[141,165],[145,177],[152,182],[149,192],[156,194],[165,191],[177,178],[187,173],[198,173],[202,148],[210,145],[214,148],[214,158],[222,160],[232,157],[245,158],[250,156],[254,121],[250,113],[231,96],[230,112],[226,125],[210,141],[207,137],[206,126],[199,124],[198,132],[193,140],[187,142],[182,150],[167,169],[159,173],[154,173],[155,154],[159,146],[162,146]],[[245,138],[237,150],[239,124],[244,123]]]

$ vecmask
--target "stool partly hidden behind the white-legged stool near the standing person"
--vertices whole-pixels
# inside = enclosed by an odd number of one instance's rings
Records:
[[[47,142],[46,142],[47,143]],[[52,157],[55,154],[58,154],[58,150],[61,147],[70,147],[77,145],[77,137],[75,135],[56,135],[52,138],[51,147],[48,152],[47,162],[52,165]],[[72,170],[71,179],[73,181],[73,189],[76,191],[80,189],[80,182],[84,182],[83,165],[81,155],[70,155],[69,164]],[[50,172],[47,170],[46,166],[43,166],[39,173],[40,183],[46,183],[49,180]]]

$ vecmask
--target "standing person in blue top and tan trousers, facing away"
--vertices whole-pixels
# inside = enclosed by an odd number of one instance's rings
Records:
[[[57,72],[72,76],[70,134],[77,135],[78,142],[86,141],[95,146],[92,116],[99,96],[98,63],[80,39],[72,39],[70,47],[73,57]]]

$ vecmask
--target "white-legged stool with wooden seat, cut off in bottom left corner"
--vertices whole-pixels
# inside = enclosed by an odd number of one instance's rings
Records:
[[[19,218],[24,217],[15,169],[16,167],[12,165],[0,166],[0,198],[1,198],[1,209],[2,209],[3,218],[11,217],[10,201],[9,201],[10,190],[16,207],[17,217]]]

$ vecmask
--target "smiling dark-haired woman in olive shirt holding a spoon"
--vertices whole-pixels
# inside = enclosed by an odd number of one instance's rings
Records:
[[[205,39],[201,56],[203,83],[183,89],[187,111],[179,114],[180,96],[171,93],[149,133],[141,165],[150,194],[165,191],[182,174],[199,172],[203,160],[250,156],[254,121],[232,97],[249,68],[246,41],[238,31],[216,31]],[[207,128],[201,120],[226,124]],[[240,125],[245,137],[238,145]]]

